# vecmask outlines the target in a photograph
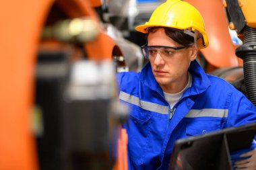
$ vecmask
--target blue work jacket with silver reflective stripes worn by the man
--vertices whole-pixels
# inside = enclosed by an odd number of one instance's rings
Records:
[[[119,99],[129,105],[129,169],[168,169],[175,140],[256,122],[256,108],[232,85],[207,75],[194,60],[192,86],[170,108],[150,63],[117,75]]]

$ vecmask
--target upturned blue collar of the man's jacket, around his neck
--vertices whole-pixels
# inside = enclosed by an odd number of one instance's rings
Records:
[[[191,88],[187,89],[187,91],[185,91],[185,95],[197,95],[199,93],[203,93],[203,91],[210,87],[211,82],[197,60],[193,60],[191,62],[191,65],[189,66],[189,72],[193,77],[192,86]],[[162,89],[156,82],[156,79],[152,73],[150,62],[148,62],[141,70],[140,80],[143,85],[146,85],[150,89],[158,91],[158,93],[163,95]]]

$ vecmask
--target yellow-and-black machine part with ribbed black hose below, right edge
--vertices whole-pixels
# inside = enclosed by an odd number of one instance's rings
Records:
[[[256,105],[256,11],[255,1],[226,1],[230,28],[243,35],[243,45],[236,48],[236,56],[243,59],[247,97]],[[234,24],[234,26],[232,25]]]

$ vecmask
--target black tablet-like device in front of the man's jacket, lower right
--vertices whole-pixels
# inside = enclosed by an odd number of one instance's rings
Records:
[[[255,134],[256,123],[252,123],[179,139],[174,143],[169,170],[231,170],[230,153],[249,148]]]

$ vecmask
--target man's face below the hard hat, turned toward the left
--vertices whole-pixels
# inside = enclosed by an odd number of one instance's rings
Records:
[[[166,36],[164,29],[150,32],[148,35],[148,46],[181,46]],[[167,93],[176,93],[181,89],[177,87],[187,85],[188,68],[190,62],[195,60],[197,49],[192,46],[182,50],[176,50],[171,56],[165,57],[161,52],[157,52],[154,57],[150,57],[150,64],[156,81]],[[185,87],[185,86],[184,86]],[[183,88],[184,88],[183,87]],[[173,89],[174,88],[174,89]],[[178,91],[175,91],[175,88]],[[183,89],[182,88],[182,89]]]

